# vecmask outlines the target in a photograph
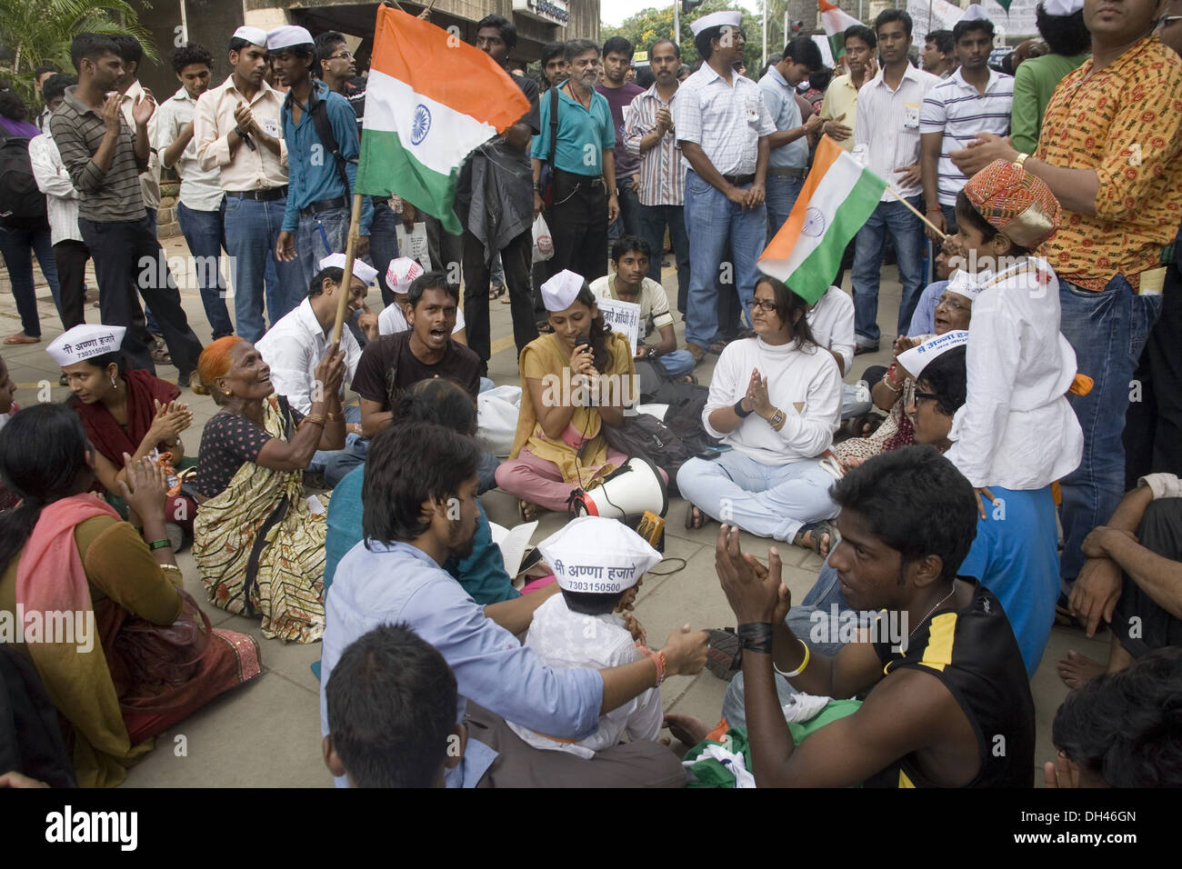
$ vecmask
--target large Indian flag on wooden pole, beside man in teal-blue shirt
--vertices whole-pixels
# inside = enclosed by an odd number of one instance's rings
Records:
[[[459,234],[460,164],[527,111],[521,89],[485,52],[378,6],[355,192],[402,196]]]

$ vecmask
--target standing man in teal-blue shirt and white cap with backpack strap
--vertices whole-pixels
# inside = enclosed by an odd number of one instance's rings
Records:
[[[345,251],[361,155],[357,115],[348,99],[312,78],[310,64],[316,58],[316,45],[306,30],[275,27],[267,33],[267,51],[291,86],[280,115],[287,144],[287,209],[275,255],[285,262],[299,260],[306,287],[318,271],[317,262]],[[332,143],[325,142],[317,129],[313,115],[319,111],[318,103],[324,104],[344,166],[333,154]],[[365,196],[358,225],[358,258],[369,253],[372,218],[374,203]]]

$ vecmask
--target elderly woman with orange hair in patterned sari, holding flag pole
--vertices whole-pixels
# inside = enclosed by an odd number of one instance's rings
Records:
[[[274,394],[271,369],[240,337],[207,346],[197,369],[222,408],[206,423],[194,481],[193,557],[206,591],[229,612],[261,616],[265,637],[314,642],[327,497],[305,498],[303,472],[317,449],[345,445],[344,354],[332,344],[317,367],[307,416]]]

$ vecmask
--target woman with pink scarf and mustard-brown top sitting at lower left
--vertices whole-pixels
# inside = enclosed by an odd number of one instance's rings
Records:
[[[118,487],[143,536],[89,491],[95,449],[61,404],[5,426],[0,476],[22,498],[0,514],[0,620],[20,617],[4,642],[37,669],[78,784],[115,786],[154,737],[258,676],[258,643],[212,628],[182,589],[151,459],[129,461]]]

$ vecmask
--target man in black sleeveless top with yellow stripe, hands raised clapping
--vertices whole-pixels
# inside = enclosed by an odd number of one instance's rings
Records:
[[[842,590],[857,610],[897,612],[897,638],[879,622],[872,642],[810,653],[784,621],[777,550],[764,568],[740,552],[738,530],[719,533],[756,785],[1028,787],[1034,701],[1018,643],[998,598],[956,576],[976,532],[968,481],[934,448],[908,447],[852,469],[833,494],[842,540],[830,562]],[[799,692],[865,700],[793,747],[775,672]],[[701,735],[696,722],[669,724]]]

